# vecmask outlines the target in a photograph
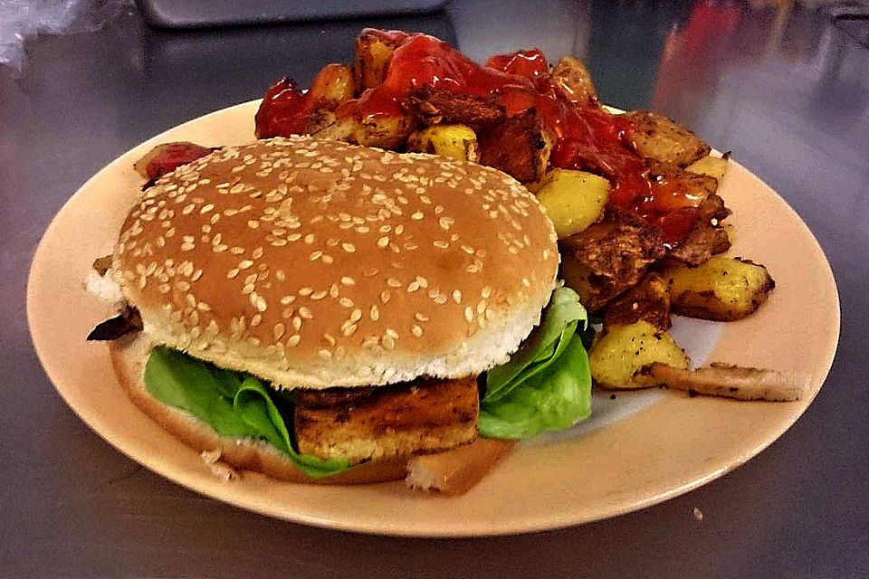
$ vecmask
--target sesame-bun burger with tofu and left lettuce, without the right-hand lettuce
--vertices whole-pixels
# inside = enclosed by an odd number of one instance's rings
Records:
[[[223,147],[131,208],[111,342],[145,413],[235,468],[403,478],[478,436],[478,376],[540,323],[559,254],[495,169],[309,137]],[[574,322],[575,325],[575,322]]]

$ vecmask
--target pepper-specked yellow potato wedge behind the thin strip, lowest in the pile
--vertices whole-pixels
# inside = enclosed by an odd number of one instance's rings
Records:
[[[669,333],[644,320],[626,326],[605,326],[588,353],[591,377],[606,388],[660,384],[660,380],[641,373],[655,363],[687,368],[688,356]]]

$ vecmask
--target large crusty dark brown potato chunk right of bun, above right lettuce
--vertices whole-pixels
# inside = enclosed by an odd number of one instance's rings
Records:
[[[559,241],[561,276],[591,311],[631,288],[649,264],[664,257],[664,235],[634,214],[607,218]]]

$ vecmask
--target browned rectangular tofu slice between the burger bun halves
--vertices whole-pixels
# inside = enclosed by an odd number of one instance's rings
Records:
[[[480,406],[474,376],[304,391],[295,403],[299,451],[354,463],[473,441]]]

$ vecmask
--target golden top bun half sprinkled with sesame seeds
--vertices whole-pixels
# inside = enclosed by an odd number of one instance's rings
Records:
[[[501,364],[540,322],[558,265],[552,224],[512,177],[309,137],[163,176],[114,254],[154,343],[307,388]]]

